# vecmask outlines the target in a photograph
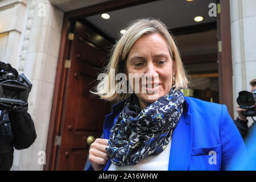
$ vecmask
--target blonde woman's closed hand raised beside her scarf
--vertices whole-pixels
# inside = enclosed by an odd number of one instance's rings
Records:
[[[104,169],[105,164],[109,160],[109,155],[106,152],[108,139],[97,138],[89,148],[89,161],[95,171]]]

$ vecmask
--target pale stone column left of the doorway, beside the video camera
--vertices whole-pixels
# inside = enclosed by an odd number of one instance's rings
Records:
[[[22,151],[17,166],[19,170],[42,170],[38,159],[43,154],[40,151],[46,150],[64,13],[46,0],[32,0],[27,15],[19,71],[24,71],[33,84],[29,111],[38,137],[27,151]]]

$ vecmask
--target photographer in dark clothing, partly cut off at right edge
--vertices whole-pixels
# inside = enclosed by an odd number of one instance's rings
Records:
[[[251,93],[256,89],[256,78],[250,81],[251,85]],[[256,105],[254,105],[254,109],[256,110]],[[255,126],[255,122],[248,127],[247,123],[247,116],[243,114],[243,111],[248,111],[248,109],[242,109],[240,105],[237,105],[237,113],[238,117],[236,120],[234,120],[234,123],[236,124],[238,130],[240,131],[240,134],[242,135],[242,138],[245,139],[247,134],[250,133],[250,130]]]

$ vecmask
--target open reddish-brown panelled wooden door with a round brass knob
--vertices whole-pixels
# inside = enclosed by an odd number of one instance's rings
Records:
[[[55,170],[82,170],[88,156],[88,136],[100,138],[110,104],[89,92],[97,83],[99,68],[104,66],[106,52],[86,40],[84,24],[76,21],[65,80],[61,112],[61,144],[57,148]]]

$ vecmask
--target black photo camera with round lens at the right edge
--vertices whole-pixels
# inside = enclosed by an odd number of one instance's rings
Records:
[[[242,111],[242,114],[246,117],[256,116],[256,89],[253,90],[253,93],[247,91],[239,92],[237,104],[240,105],[241,109],[247,109],[247,111]]]

